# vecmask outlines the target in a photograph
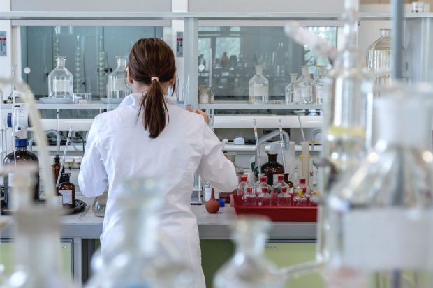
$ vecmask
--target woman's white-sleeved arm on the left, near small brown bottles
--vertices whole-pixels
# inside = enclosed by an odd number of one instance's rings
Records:
[[[85,156],[82,158],[78,184],[82,195],[96,197],[102,195],[108,186],[108,176],[101,158],[101,145],[98,140],[98,117],[94,119],[87,135]]]

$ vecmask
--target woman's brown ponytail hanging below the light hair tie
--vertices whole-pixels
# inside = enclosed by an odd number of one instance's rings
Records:
[[[144,111],[142,116],[143,126],[149,132],[149,137],[158,137],[169,121],[166,98],[159,81],[152,80],[146,96],[140,100],[141,110]],[[137,116],[139,115],[140,112]]]

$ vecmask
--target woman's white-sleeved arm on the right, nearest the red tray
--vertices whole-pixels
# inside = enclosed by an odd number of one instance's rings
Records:
[[[233,163],[224,156],[222,144],[217,135],[203,121],[203,157],[197,172],[214,188],[222,192],[231,192],[236,189],[237,176]]]

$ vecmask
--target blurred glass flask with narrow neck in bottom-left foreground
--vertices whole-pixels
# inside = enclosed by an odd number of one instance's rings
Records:
[[[20,194],[21,201],[13,214],[15,271],[6,287],[72,288],[74,286],[71,280],[64,275],[61,268],[59,209],[22,201],[33,193],[26,185],[26,178],[25,173],[17,173],[14,179],[13,190]]]

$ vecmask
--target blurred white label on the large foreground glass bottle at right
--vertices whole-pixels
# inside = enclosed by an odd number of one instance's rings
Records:
[[[342,262],[345,266],[377,271],[432,267],[431,258],[427,256],[432,245],[428,232],[432,227],[431,209],[350,212],[342,218]]]

